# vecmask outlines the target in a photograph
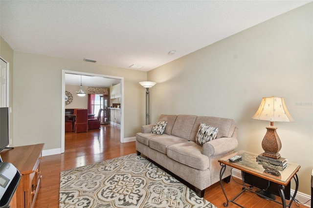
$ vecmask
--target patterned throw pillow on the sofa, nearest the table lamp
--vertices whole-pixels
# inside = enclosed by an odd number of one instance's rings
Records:
[[[218,127],[213,127],[211,125],[201,123],[201,125],[199,126],[198,133],[196,135],[197,144],[203,146],[204,143],[214,140],[218,132],[219,132]]]

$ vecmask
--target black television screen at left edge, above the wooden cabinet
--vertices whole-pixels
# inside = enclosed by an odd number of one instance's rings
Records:
[[[9,145],[9,108],[0,107],[0,151]]]

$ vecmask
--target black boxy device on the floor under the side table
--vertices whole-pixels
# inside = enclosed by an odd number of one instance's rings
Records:
[[[250,173],[243,172],[243,174],[244,174],[245,183],[253,187],[261,188],[260,191],[257,191],[260,194],[265,195],[269,198],[274,198],[273,195],[280,197],[278,184],[268,181],[266,179],[254,176]],[[286,199],[290,200],[290,183],[285,187],[284,194],[285,194]]]

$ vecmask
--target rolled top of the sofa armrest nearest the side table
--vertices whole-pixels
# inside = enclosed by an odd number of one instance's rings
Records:
[[[205,143],[202,146],[202,154],[211,157],[234,150],[238,146],[237,138],[222,137]]]

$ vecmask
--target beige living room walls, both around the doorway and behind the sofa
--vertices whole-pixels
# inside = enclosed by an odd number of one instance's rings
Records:
[[[313,168],[313,3],[266,21],[148,72],[151,118],[194,114],[233,118],[239,149],[262,152],[266,121],[251,120],[262,97],[280,96],[294,123],[278,123],[280,153],[301,165],[299,191],[310,193]],[[14,146],[61,146],[61,71],[124,77],[124,136],[145,123],[147,73],[14,52],[0,38],[0,56],[10,62]],[[14,58],[14,61],[13,61]],[[14,69],[13,69],[14,64]],[[14,79],[13,79],[14,77]]]

